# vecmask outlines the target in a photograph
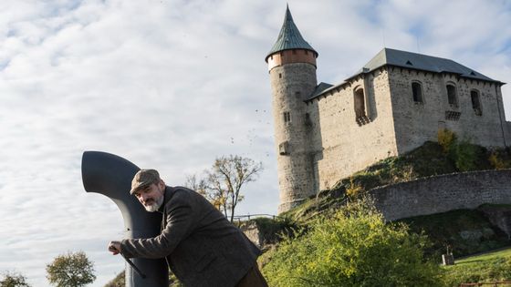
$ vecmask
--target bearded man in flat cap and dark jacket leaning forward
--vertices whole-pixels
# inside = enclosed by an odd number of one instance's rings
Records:
[[[257,268],[261,251],[193,190],[168,187],[155,169],[141,169],[130,194],[145,210],[162,212],[162,233],[150,239],[111,241],[128,258],[165,258],[185,286],[267,287]]]

